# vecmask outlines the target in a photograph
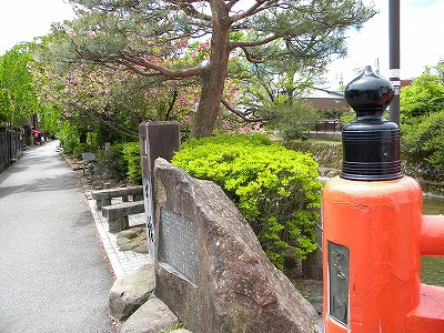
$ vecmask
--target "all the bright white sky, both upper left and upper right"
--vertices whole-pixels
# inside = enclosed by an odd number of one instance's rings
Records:
[[[250,0],[251,1],[251,0]],[[17,43],[48,34],[51,23],[74,18],[68,0],[0,0],[0,54]],[[372,0],[364,0],[369,3]],[[444,60],[443,0],[400,0],[401,78],[421,75],[425,65]],[[324,88],[337,89],[370,64],[389,78],[389,0],[373,0],[379,13],[360,31],[351,30],[347,57],[329,65]]]

